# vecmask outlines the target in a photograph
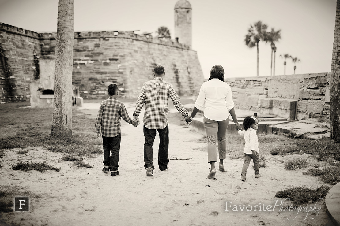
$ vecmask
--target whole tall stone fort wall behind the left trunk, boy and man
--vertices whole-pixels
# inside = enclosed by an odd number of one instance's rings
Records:
[[[0,23],[0,102],[29,100],[29,84],[39,71],[54,71],[53,63],[39,60],[54,60],[55,37]],[[120,31],[74,33],[72,84],[83,98],[106,98],[111,83],[122,97],[136,98],[157,64],[165,67],[165,80],[178,94],[198,94],[203,72],[197,52],[187,45]]]

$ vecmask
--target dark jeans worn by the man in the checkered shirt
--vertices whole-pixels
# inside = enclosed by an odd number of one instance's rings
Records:
[[[168,151],[169,151],[169,124],[164,129],[158,129],[159,134],[159,148],[158,148],[158,166],[160,170],[167,169],[169,158],[168,158]],[[156,130],[148,129],[144,125],[144,136],[145,136],[145,143],[144,143],[144,162],[145,168],[151,167],[155,169],[153,166],[153,151],[152,146],[153,142],[156,137]]]

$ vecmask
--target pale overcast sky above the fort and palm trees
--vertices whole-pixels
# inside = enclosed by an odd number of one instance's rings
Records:
[[[174,38],[177,0],[74,0],[74,31],[155,32],[166,26]],[[256,47],[244,36],[261,20],[281,29],[276,75],[284,74],[280,54],[299,58],[296,74],[330,72],[336,0],[191,0],[192,49],[204,76],[221,64],[226,77],[256,76]],[[0,22],[34,32],[56,32],[58,0],[0,0]],[[259,74],[270,75],[270,44],[259,44]],[[294,64],[287,60],[286,74]]]

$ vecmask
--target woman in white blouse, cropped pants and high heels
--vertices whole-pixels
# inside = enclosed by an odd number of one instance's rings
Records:
[[[237,121],[232,90],[224,82],[224,69],[215,65],[210,70],[210,78],[201,86],[200,94],[191,113],[192,119],[199,110],[204,108],[204,127],[208,139],[208,163],[210,172],[207,178],[215,178],[216,169],[216,142],[220,159],[219,170],[224,171],[223,159],[226,158],[226,131],[229,124],[229,113],[232,116],[237,130],[242,127]]]

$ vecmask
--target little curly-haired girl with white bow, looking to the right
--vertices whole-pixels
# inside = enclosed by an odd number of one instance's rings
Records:
[[[244,163],[241,173],[241,181],[245,181],[245,175],[247,174],[247,169],[249,167],[250,161],[253,159],[255,178],[260,177],[259,174],[259,163],[258,163],[258,140],[256,135],[256,130],[258,127],[258,120],[254,116],[247,116],[243,119],[244,130],[238,130],[241,136],[244,136],[245,146],[244,146]]]

